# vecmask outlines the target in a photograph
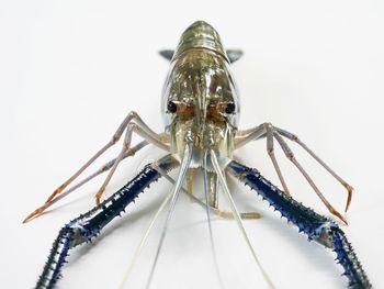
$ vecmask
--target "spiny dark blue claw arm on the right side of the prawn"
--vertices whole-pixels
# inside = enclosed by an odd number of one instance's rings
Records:
[[[350,288],[372,287],[351,244],[334,221],[295,201],[262,177],[257,169],[251,169],[233,160],[229,163],[227,171],[255,189],[275,210],[281,212],[282,216],[294,223],[300,232],[304,232],[309,240],[334,249],[338,263],[345,269],[343,275],[347,276]]]

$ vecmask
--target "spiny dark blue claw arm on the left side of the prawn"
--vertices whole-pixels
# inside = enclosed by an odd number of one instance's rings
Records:
[[[170,155],[160,160],[145,166],[145,168],[123,188],[113,193],[100,205],[93,208],[86,214],[81,214],[66,224],[58,233],[43,274],[39,276],[36,289],[53,288],[61,277],[61,268],[66,263],[69,249],[77,245],[90,242],[98,236],[100,231],[114,218],[124,212],[137,196],[150,184],[158,180],[161,174],[156,169],[169,171],[179,166],[179,163]]]

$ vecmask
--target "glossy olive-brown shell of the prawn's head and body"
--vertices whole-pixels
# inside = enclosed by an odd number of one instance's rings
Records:
[[[197,21],[182,34],[161,108],[173,154],[181,158],[185,137],[192,137],[197,148],[194,166],[201,165],[207,147],[231,157],[240,104],[219,36],[207,23]]]

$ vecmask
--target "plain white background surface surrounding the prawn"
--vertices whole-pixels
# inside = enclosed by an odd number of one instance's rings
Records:
[[[264,121],[301,136],[355,188],[342,226],[372,284],[383,288],[383,1],[1,1],[0,287],[32,288],[67,221],[93,205],[102,178],[49,213],[21,220],[110,140],[129,110],[162,130],[160,92],[172,48],[195,20],[210,22],[226,47],[245,56],[233,67],[241,93],[241,127]],[[135,138],[137,141],[137,138]],[[297,158],[340,211],[346,192],[297,146]],[[116,147],[103,160],[114,156]],[[278,151],[293,196],[329,215]],[[124,163],[108,193],[145,163],[145,149]],[[278,178],[264,141],[237,153]],[[98,163],[98,168],[102,162]],[[154,185],[99,241],[75,249],[59,288],[117,288],[139,238],[170,190]],[[234,188],[251,242],[278,288],[345,288],[334,253],[306,241],[247,188]],[[180,199],[153,288],[218,288],[204,211]],[[144,288],[160,225],[128,281]],[[225,288],[263,288],[234,221],[213,222]]]

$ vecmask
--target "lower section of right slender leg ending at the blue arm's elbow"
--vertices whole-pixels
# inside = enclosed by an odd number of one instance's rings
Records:
[[[309,175],[305,171],[305,169],[301,166],[301,164],[295,158],[295,155],[292,153],[291,148],[287,146],[287,144],[284,142],[284,140],[278,134],[274,133],[274,137],[278,140],[281,148],[283,149],[285,156],[296,166],[296,168],[302,173],[302,175],[305,177],[305,179],[308,181],[310,187],[314,189],[316,194],[320,198],[321,202],[327,207],[328,211],[339,218],[342,222],[348,224],[347,220],[328,202],[328,200],[324,197],[324,194],[320,192],[320,190],[317,188],[315,182],[312,180]]]

